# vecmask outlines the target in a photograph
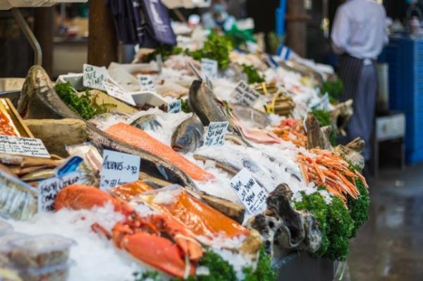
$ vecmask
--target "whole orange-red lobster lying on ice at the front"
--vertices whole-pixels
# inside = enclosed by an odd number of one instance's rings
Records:
[[[90,209],[111,202],[116,212],[125,217],[116,223],[111,233],[94,223],[92,230],[112,239],[118,249],[127,251],[139,261],[147,263],[175,277],[195,274],[195,263],[202,257],[202,246],[181,223],[166,214],[140,216],[131,206],[97,187],[69,185],[56,196],[56,210]]]

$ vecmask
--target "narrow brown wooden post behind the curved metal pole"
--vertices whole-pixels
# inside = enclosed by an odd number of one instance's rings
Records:
[[[42,50],[42,67],[53,73],[53,38],[55,30],[54,8],[34,9],[34,35]]]

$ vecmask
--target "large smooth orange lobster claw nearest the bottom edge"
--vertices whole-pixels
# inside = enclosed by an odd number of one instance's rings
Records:
[[[194,267],[185,264],[178,246],[164,237],[137,232],[133,235],[121,234],[115,239],[119,239],[114,241],[118,248],[169,275],[185,278],[195,273]]]

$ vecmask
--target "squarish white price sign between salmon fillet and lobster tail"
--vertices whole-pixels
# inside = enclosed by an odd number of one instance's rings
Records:
[[[101,189],[111,189],[127,182],[136,182],[140,176],[140,156],[104,150]]]

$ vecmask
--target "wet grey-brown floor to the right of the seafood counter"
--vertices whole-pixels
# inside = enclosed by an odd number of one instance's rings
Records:
[[[353,281],[423,280],[423,164],[371,180],[369,221],[351,242]]]

